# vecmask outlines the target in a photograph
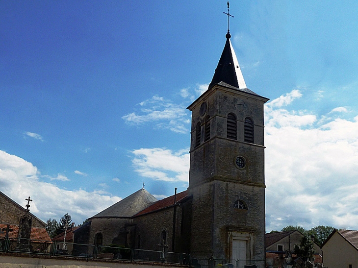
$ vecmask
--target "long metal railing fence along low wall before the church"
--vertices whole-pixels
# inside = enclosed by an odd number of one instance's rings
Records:
[[[31,253],[61,257],[115,259],[188,265],[192,268],[265,268],[265,260],[191,259],[189,254],[125,247],[95,246],[34,239],[2,239],[1,252]]]

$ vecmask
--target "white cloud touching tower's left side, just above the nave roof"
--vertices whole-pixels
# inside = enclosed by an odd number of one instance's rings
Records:
[[[162,181],[188,181],[188,149],[173,152],[163,148],[141,148],[133,150],[132,163],[143,177]]]

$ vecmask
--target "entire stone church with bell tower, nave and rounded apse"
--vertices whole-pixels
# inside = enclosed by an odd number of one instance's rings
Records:
[[[228,30],[208,89],[187,108],[188,189],[156,200],[143,186],[89,218],[74,243],[265,260],[263,105],[269,99],[247,88],[230,37]]]

